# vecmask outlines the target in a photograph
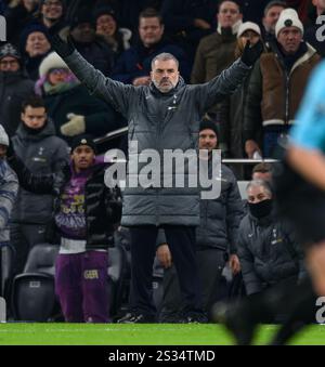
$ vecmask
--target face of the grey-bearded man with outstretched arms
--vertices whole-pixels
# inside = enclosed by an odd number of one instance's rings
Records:
[[[173,88],[180,79],[178,65],[173,60],[156,60],[154,68],[151,71],[153,83],[161,93],[167,93]]]

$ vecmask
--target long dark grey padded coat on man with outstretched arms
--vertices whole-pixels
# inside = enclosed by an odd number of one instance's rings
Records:
[[[204,113],[232,93],[249,71],[238,60],[207,83],[186,86],[180,79],[174,89],[161,93],[153,83],[133,87],[105,78],[77,51],[65,62],[92,93],[101,95],[127,118],[129,171],[135,171],[135,175],[143,168],[138,165],[139,152],[155,149],[162,157],[166,149],[196,149]],[[171,178],[174,176],[173,171]],[[122,225],[199,225],[196,187],[130,187],[128,179],[129,175],[123,192]]]

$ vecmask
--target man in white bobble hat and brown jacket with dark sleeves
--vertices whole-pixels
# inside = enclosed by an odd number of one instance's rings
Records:
[[[286,144],[307,80],[320,55],[302,40],[303,25],[294,9],[282,11],[275,26],[276,43],[251,73],[244,109],[245,152],[275,157]],[[259,139],[259,136],[262,136]]]

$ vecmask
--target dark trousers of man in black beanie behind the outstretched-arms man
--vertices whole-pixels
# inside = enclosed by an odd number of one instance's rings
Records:
[[[203,296],[203,309],[209,314],[212,304],[218,300],[221,273],[225,264],[224,251],[205,249],[196,252],[198,275]],[[161,322],[176,322],[183,312],[180,285],[176,267],[164,272],[164,298],[160,312]]]

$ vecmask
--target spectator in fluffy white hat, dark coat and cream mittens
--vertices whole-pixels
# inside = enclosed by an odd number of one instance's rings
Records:
[[[121,127],[121,116],[99,97],[90,95],[55,52],[42,61],[39,75],[36,90],[44,99],[58,136],[67,142],[82,133],[99,137]]]

